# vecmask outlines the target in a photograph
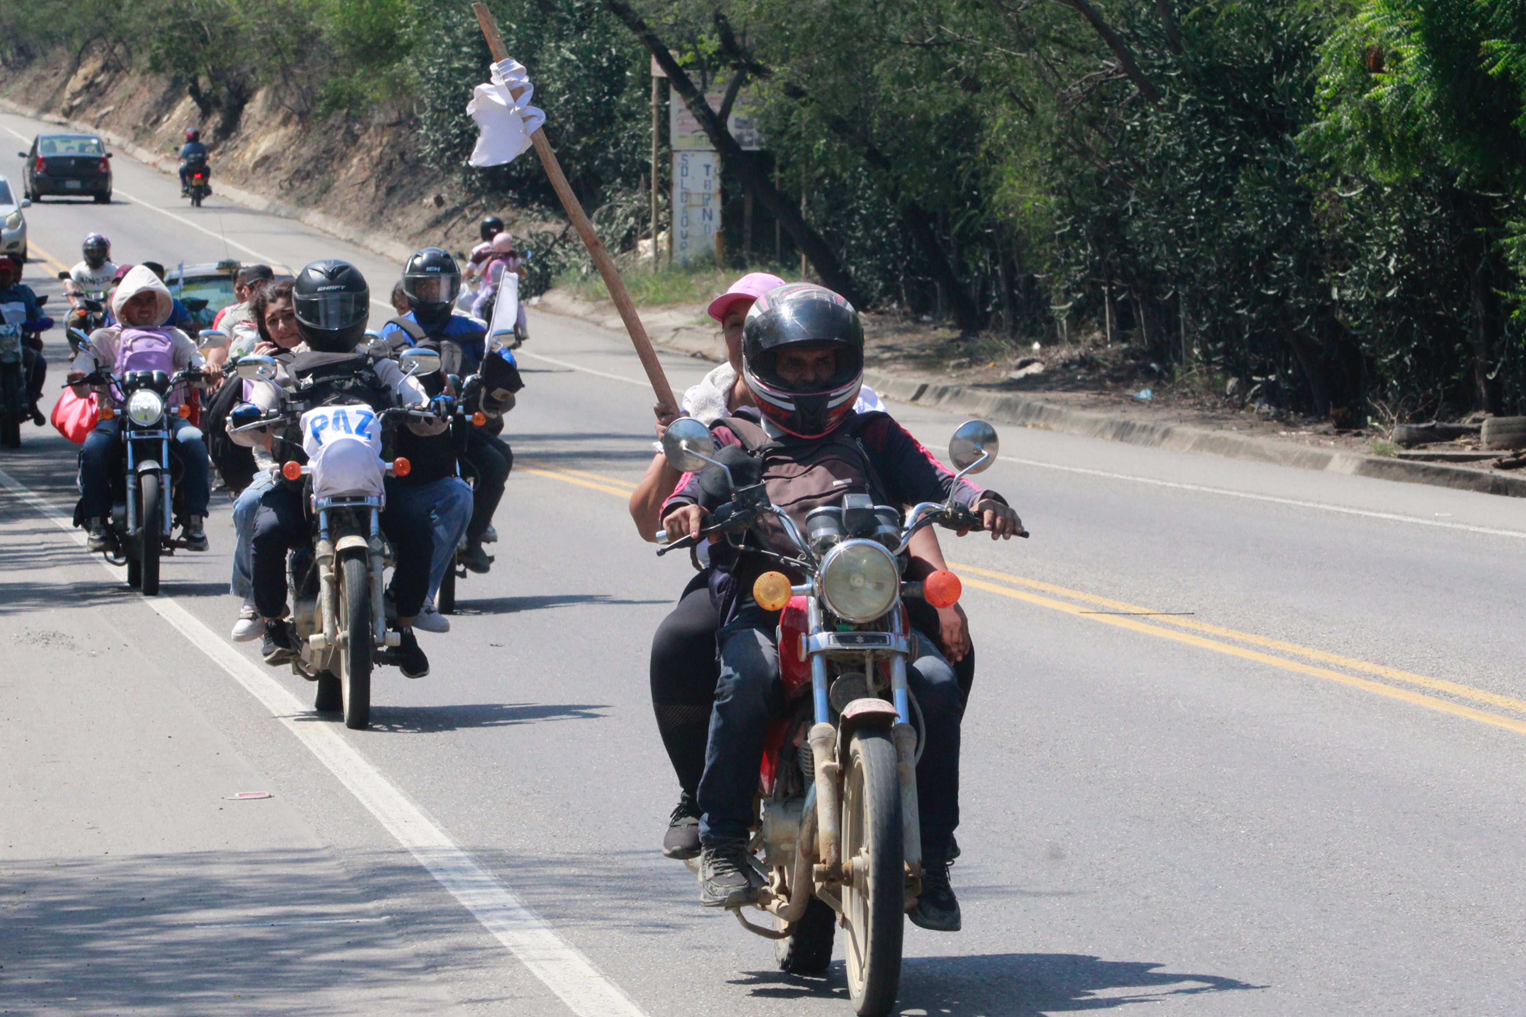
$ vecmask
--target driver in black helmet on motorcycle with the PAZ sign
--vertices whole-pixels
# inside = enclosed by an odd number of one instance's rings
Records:
[[[308,398],[314,404],[368,404],[380,412],[392,406],[429,403],[418,381],[406,377],[397,363],[372,358],[357,348],[371,310],[371,288],[359,268],[343,261],[314,261],[298,274],[291,297],[296,328],[307,349],[293,357],[290,375],[311,384]],[[261,381],[250,395],[250,403],[262,410],[281,406],[281,392],[272,383]],[[407,428],[438,435],[446,422],[407,424]],[[290,453],[291,442],[287,442],[281,457],[290,457]],[[429,674],[429,657],[420,650],[412,625],[429,592],[435,541],[429,508],[418,499],[400,496],[395,477],[386,479],[382,531],[392,546],[395,563],[392,596],[398,618],[392,628],[401,634],[395,650],[398,668],[409,679],[423,679]],[[276,483],[261,496],[250,538],[250,572],[255,607],[266,624],[261,653],[269,665],[287,663],[298,654],[296,633],[284,621],[288,613],[287,552],[310,538],[311,523],[301,486]]]

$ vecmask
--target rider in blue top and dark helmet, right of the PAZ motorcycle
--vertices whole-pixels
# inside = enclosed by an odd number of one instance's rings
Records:
[[[409,313],[382,328],[382,338],[398,349],[404,345],[427,346],[441,352],[443,374],[481,371],[484,395],[481,409],[490,421],[502,427],[502,416],[514,409],[514,393],[523,387],[514,354],[507,349],[488,352],[487,325],[453,310],[461,291],[461,268],[456,259],[439,247],[415,252],[403,267],[403,294]],[[514,467],[514,453],[507,442],[494,438],[491,424],[473,427],[461,457],[476,474],[472,491],[472,521],[467,525],[467,546],[461,564],[472,572],[487,572],[493,557],[482,547],[484,535],[493,525],[493,514],[504,497],[504,485]],[[441,573],[441,578],[444,573]]]

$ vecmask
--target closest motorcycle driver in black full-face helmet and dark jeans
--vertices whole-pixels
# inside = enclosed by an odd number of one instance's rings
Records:
[[[993,540],[1018,532],[1021,521],[1000,494],[964,482],[955,486],[954,474],[929,460],[890,416],[853,410],[862,372],[864,329],[847,300],[813,284],[772,290],[752,305],[743,328],[743,378],[760,416],[739,410],[722,418],[716,438],[722,445],[743,447],[745,436],[761,438],[771,442],[771,456],[797,460],[833,442],[844,462],[859,460],[855,483],[876,502],[909,506],[952,496],[974,511]],[[771,488],[781,482],[787,480],[765,477]],[[700,477],[688,477],[664,506],[664,529],[674,538],[697,537],[713,503]],[[797,525],[804,526],[804,518]],[[777,564],[757,550],[736,552],[726,544],[714,544],[711,557],[720,573],[711,589],[725,624],[716,634],[720,682],[699,782],[700,903],[736,907],[755,900],[761,886],[748,858],[752,796],[768,723],[784,707],[775,645],[778,611],[765,611],[752,601],[752,581]],[[908,576],[920,578],[913,570]],[[963,698],[932,639],[917,636],[906,679],[922,711],[926,743],[917,765],[923,889],[909,916],[923,929],[954,932],[960,909],[948,869],[958,825]]]

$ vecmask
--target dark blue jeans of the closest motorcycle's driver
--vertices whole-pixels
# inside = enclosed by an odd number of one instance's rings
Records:
[[[716,633],[720,682],[710,712],[705,773],[699,779],[699,839],[705,845],[748,839],[755,819],[752,796],[758,787],[763,741],[771,720],[786,712],[778,677],[775,627],[778,613],[748,605]],[[914,659],[906,685],[922,706],[926,750],[917,764],[917,808],[922,819],[922,855],[946,860],[958,826],[958,747],[964,698],[943,654],[931,639],[914,633]]]

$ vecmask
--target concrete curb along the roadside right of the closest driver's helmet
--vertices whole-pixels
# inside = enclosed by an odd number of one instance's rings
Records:
[[[1349,451],[1309,448],[1293,442],[1247,438],[1183,424],[1135,421],[1096,410],[1077,410],[1013,392],[981,392],[961,384],[922,381],[881,371],[865,371],[864,381],[881,395],[899,403],[931,406],[967,413],[1000,424],[1044,427],[1065,435],[1102,438],[1129,445],[1193,451],[1227,459],[1250,459],[1297,470],[1322,470],[1381,480],[1430,483],[1433,486],[1526,497],[1526,477],[1506,477],[1433,462],[1361,456]]]

